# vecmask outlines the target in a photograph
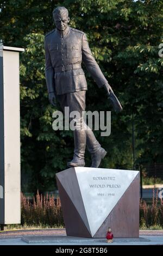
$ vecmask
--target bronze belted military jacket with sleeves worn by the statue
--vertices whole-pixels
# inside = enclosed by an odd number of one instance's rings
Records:
[[[64,32],[54,29],[45,36],[44,46],[48,93],[59,95],[87,90],[82,61],[99,88],[108,83],[92,56],[84,32],[71,27]]]

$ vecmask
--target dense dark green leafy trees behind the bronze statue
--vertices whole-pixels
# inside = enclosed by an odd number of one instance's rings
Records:
[[[43,39],[53,29],[52,10],[58,5],[69,10],[70,26],[87,34],[91,50],[123,106],[122,113],[111,114],[111,136],[100,137],[100,131],[95,132],[108,151],[101,166],[132,169],[135,163],[145,166],[161,161],[161,0],[9,0],[0,4],[4,45],[26,48],[21,54],[23,191],[53,190],[55,173],[65,169],[73,155],[73,133],[52,130],[54,108],[48,102],[44,74]],[[105,90],[86,76],[86,109],[111,110]],[[87,153],[86,164],[90,164]]]

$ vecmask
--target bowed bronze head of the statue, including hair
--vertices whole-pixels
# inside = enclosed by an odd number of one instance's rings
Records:
[[[70,18],[68,17],[68,10],[65,7],[57,7],[53,10],[53,19],[55,26],[60,30],[64,31],[67,26]]]

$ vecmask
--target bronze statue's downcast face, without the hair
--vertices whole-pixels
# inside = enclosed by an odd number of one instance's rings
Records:
[[[64,31],[68,26],[68,22],[70,21],[70,18],[68,17],[66,12],[63,12],[61,14],[54,14],[53,19],[55,22],[55,26],[60,31]]]

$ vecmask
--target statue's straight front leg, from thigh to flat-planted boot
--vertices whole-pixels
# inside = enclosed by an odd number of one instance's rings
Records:
[[[67,106],[70,107],[70,112],[78,111],[79,116],[75,117],[76,127],[79,130],[74,130],[74,156],[71,162],[68,162],[68,167],[85,166],[84,154],[86,147],[86,131],[83,127],[83,111],[85,111],[85,90],[67,94]],[[70,121],[73,118],[70,118]]]

